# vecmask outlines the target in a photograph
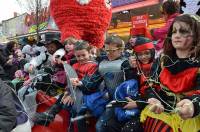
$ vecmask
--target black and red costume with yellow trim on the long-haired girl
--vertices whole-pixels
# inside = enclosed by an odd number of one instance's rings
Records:
[[[177,58],[175,58],[177,59]],[[177,63],[173,63],[173,61],[168,60],[160,72],[160,83],[161,83],[161,89],[160,91],[157,91],[157,94],[167,102],[171,107],[174,109],[176,108],[176,104],[178,101],[183,100],[183,98],[189,99],[193,102],[194,106],[194,114],[191,120],[192,122],[196,121],[196,116],[199,114],[200,106],[199,106],[199,99],[200,99],[200,87],[199,87],[199,63],[197,62],[191,62],[189,59],[177,59]],[[155,95],[155,98],[157,98],[157,95]],[[158,98],[159,99],[159,98]],[[164,104],[163,101],[161,101],[162,105],[164,106],[166,112],[170,112],[168,110],[173,110],[171,107],[168,107],[168,105]],[[168,109],[168,110],[167,110]],[[147,112],[148,113],[148,112]],[[145,113],[146,114],[146,113]],[[143,115],[145,115],[143,114]],[[167,119],[172,119],[169,114],[169,116],[162,116],[158,115],[157,117],[152,116],[151,114],[147,114],[147,118],[145,119],[144,123],[144,131],[172,131],[174,129],[179,129],[177,127],[180,127],[181,131],[183,129],[183,126],[176,126],[173,127],[172,122],[169,122]],[[168,115],[168,114],[166,114]],[[166,117],[166,118],[165,118]],[[174,120],[176,120],[174,118]],[[175,121],[178,125],[181,123],[176,120]],[[153,127],[150,127],[153,126]],[[194,128],[196,129],[196,128]],[[184,128],[185,130],[185,128]]]

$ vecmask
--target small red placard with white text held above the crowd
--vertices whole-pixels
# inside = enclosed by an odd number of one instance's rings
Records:
[[[148,15],[133,16],[131,18],[132,26],[135,27],[147,27],[148,25]]]

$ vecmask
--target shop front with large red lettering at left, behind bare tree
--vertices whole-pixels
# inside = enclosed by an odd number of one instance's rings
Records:
[[[47,42],[52,39],[60,39],[60,31],[50,17],[48,8],[41,10],[38,21],[36,21],[36,14],[32,12],[3,21],[2,25],[3,33],[8,40],[18,40],[23,43],[24,38],[37,36],[37,28],[41,41]]]

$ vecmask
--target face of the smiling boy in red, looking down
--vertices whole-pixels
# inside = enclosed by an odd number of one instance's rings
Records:
[[[79,63],[85,63],[90,60],[90,54],[86,49],[74,51],[74,54]]]

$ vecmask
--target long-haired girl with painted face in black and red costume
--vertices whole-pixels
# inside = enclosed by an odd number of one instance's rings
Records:
[[[145,131],[200,130],[199,29],[195,15],[178,16],[172,23],[161,59],[160,88],[149,85],[153,94],[141,113]]]

